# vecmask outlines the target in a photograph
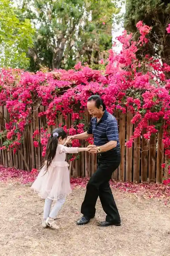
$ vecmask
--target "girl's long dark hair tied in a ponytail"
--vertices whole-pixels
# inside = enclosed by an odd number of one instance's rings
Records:
[[[56,136],[55,133],[58,133],[58,136]],[[56,149],[58,146],[58,138],[62,137],[62,140],[67,137],[66,132],[62,128],[56,128],[52,131],[51,136],[48,140],[47,143],[47,148],[46,148],[46,165],[45,165],[45,170],[46,172],[48,171],[52,160],[54,159]]]

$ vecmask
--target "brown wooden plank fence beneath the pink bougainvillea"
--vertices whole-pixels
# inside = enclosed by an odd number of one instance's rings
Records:
[[[42,148],[34,148],[33,132],[36,129],[44,127],[46,117],[38,117],[38,112],[45,111],[44,106],[38,109],[34,108],[32,123],[24,130],[24,139],[20,152],[14,154],[12,151],[0,151],[0,163],[7,167],[16,167],[18,169],[31,170],[39,168],[43,158],[41,157]],[[115,117],[119,124],[119,137],[121,145],[121,163],[119,168],[113,173],[113,179],[119,181],[132,182],[162,182],[163,176],[168,177],[168,170],[161,167],[166,160],[164,154],[164,145],[162,143],[163,132],[160,131],[156,136],[151,137],[150,141],[145,140],[143,136],[135,139],[132,148],[126,148],[125,142],[129,140],[133,134],[134,125],[131,124],[132,114],[128,112],[120,114],[115,112]],[[0,106],[0,129],[3,130],[8,120],[8,112],[5,106]],[[56,127],[63,123],[62,115],[56,120]],[[89,122],[89,116],[87,116]],[[72,124],[69,116],[66,125],[69,128]],[[49,128],[50,131],[50,128]],[[144,131],[145,133],[145,131]],[[1,139],[2,143],[5,139]],[[86,146],[87,142],[83,142],[82,146]],[[82,152],[79,159],[73,161],[71,174],[73,177],[86,176],[90,177],[97,168],[96,155],[90,155],[88,152]]]

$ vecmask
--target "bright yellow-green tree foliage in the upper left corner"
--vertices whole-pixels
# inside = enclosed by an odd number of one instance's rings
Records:
[[[26,68],[28,48],[33,45],[34,29],[30,20],[20,21],[10,0],[0,0],[0,65],[5,68]]]

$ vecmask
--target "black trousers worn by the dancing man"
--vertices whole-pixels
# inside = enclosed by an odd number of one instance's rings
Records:
[[[96,213],[96,201],[100,198],[106,221],[120,222],[120,216],[109,185],[112,173],[120,165],[120,149],[112,153],[105,152],[98,156],[97,171],[91,176],[86,187],[86,194],[81,207],[81,213],[91,218]]]

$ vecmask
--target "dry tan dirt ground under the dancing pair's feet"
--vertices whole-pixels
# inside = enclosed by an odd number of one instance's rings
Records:
[[[76,188],[58,215],[59,230],[43,229],[44,201],[28,185],[0,183],[0,256],[170,256],[170,208],[113,190],[121,227],[102,228],[105,213],[76,226],[84,188]]]

